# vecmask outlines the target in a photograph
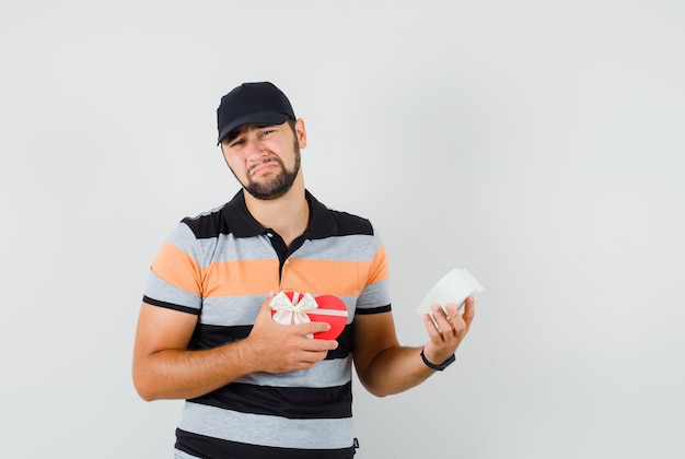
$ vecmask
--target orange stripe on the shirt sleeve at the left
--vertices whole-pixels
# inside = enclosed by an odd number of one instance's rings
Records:
[[[151,269],[164,282],[189,293],[201,294],[200,267],[188,254],[173,244],[162,244]]]

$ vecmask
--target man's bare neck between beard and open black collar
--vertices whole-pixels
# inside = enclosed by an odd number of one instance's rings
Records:
[[[262,226],[274,229],[288,246],[304,233],[310,221],[310,205],[304,197],[301,173],[290,190],[280,198],[262,200],[245,191],[245,204]]]

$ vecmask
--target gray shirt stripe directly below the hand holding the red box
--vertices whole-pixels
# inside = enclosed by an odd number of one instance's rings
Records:
[[[336,387],[350,381],[352,377],[352,358],[335,358],[321,361],[310,369],[288,373],[253,373],[240,378],[236,382],[271,387]]]

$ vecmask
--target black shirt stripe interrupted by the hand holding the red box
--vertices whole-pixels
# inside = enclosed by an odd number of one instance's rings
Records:
[[[190,338],[188,349],[213,349],[233,341],[243,340],[247,338],[251,331],[252,326],[222,327],[198,323],[193,338]],[[353,331],[353,322],[345,327],[342,333],[337,339],[338,348],[328,351],[327,360],[345,358],[352,352]]]

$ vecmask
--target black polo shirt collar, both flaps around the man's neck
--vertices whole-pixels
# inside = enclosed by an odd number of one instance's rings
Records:
[[[328,208],[307,190],[304,190],[304,197],[310,204],[310,224],[304,236],[307,239],[318,239],[335,234],[336,224]],[[223,217],[235,237],[254,237],[267,232],[247,210],[243,189],[223,207]]]

